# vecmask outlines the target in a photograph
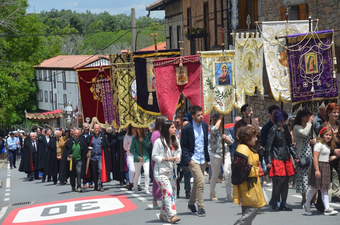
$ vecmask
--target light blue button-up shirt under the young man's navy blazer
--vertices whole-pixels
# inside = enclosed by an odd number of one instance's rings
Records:
[[[204,134],[202,123],[197,125],[194,121],[192,121],[193,133],[195,135],[195,149],[193,151],[193,155],[191,159],[198,164],[205,163],[205,155],[204,155]]]

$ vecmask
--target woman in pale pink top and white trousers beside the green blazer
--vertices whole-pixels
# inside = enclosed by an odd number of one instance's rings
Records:
[[[135,132],[136,132],[136,127],[133,127],[130,124],[128,133],[126,133],[124,137],[124,141],[123,141],[123,147],[124,147],[124,150],[126,151],[126,164],[128,164],[129,180],[130,180],[130,183],[127,183],[126,186],[128,187],[130,191],[132,190],[133,179],[135,177],[135,166],[133,164],[133,155],[130,152],[130,146],[131,146],[132,138],[135,136]],[[138,188],[139,188],[139,185],[140,185],[140,174],[139,174],[139,179],[138,179]]]

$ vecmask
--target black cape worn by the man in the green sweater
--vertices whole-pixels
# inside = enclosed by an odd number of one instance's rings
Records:
[[[72,153],[73,141],[74,141],[74,138],[70,138],[65,142],[65,148],[63,152],[63,157],[60,162],[60,169],[59,169],[59,176],[58,176],[58,180],[60,182],[66,181],[70,177],[70,162],[67,160],[67,157],[71,155]],[[81,141],[79,138],[79,144],[80,144],[81,155],[83,156],[84,149],[85,149],[84,148],[85,142]],[[86,165],[86,161],[85,161],[85,165]],[[72,167],[72,170],[75,170],[75,166]],[[85,170],[84,171],[82,170],[81,177],[84,177],[84,174],[83,174],[84,172]]]

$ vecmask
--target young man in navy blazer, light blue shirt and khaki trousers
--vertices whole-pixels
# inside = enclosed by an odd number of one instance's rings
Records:
[[[192,121],[182,129],[181,149],[184,166],[188,166],[193,176],[188,209],[192,214],[204,217],[205,210],[203,205],[204,189],[204,170],[206,163],[210,161],[208,153],[208,124],[203,122],[203,110],[200,106],[192,106]],[[198,211],[195,207],[197,201]]]

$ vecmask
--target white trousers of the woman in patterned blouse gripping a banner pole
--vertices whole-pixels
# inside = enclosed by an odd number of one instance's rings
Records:
[[[225,183],[225,191],[227,194],[232,193],[232,178],[231,178],[231,167],[232,161],[230,158],[230,153],[228,152],[224,158],[224,164],[222,163],[222,158],[217,156],[210,156],[210,165],[211,165],[211,178],[210,178],[210,193],[215,194],[216,181],[218,178],[218,174],[220,173],[220,168],[222,165],[223,174],[224,174],[224,183]]]

